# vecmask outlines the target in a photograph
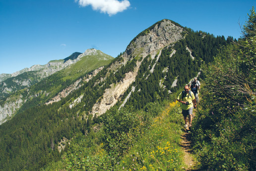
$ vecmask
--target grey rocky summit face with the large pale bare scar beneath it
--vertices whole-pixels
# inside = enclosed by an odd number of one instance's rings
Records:
[[[146,29],[144,33],[142,32],[141,35],[138,35],[131,41],[122,56],[124,59],[123,62],[117,61],[113,63],[111,69],[118,69],[122,64],[126,64],[132,60],[133,57],[138,56],[144,58],[150,54],[153,59],[157,52],[159,57],[161,50],[165,46],[183,39],[182,33],[184,32],[186,32],[184,28],[177,26],[171,20],[164,19],[156,23],[152,28]],[[140,64],[141,62],[137,61],[137,66],[133,72],[126,73],[122,81],[111,85],[111,88],[105,91],[103,98],[93,106],[91,114],[104,114],[122,98],[130,84],[135,80]]]

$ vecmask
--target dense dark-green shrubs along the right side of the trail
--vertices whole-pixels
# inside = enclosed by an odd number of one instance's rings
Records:
[[[248,22],[256,25],[254,8],[252,14]],[[206,169],[256,169],[255,45],[256,36],[246,36],[223,47],[214,62],[202,68],[206,86],[200,93],[192,142]]]

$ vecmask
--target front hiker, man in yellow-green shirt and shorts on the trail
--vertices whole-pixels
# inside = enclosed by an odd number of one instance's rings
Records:
[[[189,116],[189,127],[192,126],[192,116],[193,116],[193,104],[196,107],[194,94],[190,91],[189,86],[184,87],[184,91],[180,93],[177,101],[182,103],[182,114],[184,116],[185,128],[188,127],[187,117]]]

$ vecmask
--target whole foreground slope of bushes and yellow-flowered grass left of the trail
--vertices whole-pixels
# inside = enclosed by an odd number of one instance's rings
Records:
[[[187,168],[180,145],[184,130],[180,105],[169,101],[151,103],[145,111],[131,114],[138,122],[135,121],[126,134],[121,133],[119,141],[115,140],[117,149],[129,145],[122,157],[115,150],[107,150],[106,132],[100,129],[87,136],[77,134],[62,160],[51,163],[43,171],[180,171]]]

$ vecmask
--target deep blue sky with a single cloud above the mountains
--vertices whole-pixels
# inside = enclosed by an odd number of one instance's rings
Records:
[[[241,36],[255,0],[0,0],[0,73],[95,48],[112,57],[162,19]]]

